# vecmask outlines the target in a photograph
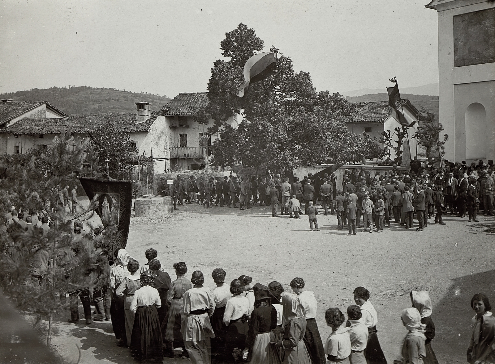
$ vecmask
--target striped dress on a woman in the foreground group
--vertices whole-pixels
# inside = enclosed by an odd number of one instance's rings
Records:
[[[178,276],[175,281],[170,284],[167,293],[167,302],[170,304],[168,309],[168,318],[163,321],[165,329],[165,342],[182,341],[181,325],[184,321],[184,293],[193,288],[193,285],[184,276]]]

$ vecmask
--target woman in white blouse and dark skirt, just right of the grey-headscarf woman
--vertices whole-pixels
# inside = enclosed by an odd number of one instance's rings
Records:
[[[318,302],[314,293],[304,289],[304,280],[296,277],[291,281],[291,288],[299,297],[299,302],[304,308],[304,318],[306,319],[306,332],[304,334],[304,343],[313,364],[325,364],[327,358],[321,342],[320,331],[316,324],[316,309]]]

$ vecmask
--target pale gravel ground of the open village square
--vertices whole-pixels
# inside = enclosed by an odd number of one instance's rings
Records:
[[[353,289],[365,286],[378,312],[378,336],[389,363],[399,358],[406,333],[400,311],[411,305],[409,291],[428,290],[437,329],[432,345],[439,362],[464,363],[474,315],[471,297],[484,292],[494,298],[495,220],[483,216],[479,220],[468,223],[467,218],[447,215],[446,225],[432,224],[423,232],[392,224],[380,234],[358,230],[347,236],[346,230],[335,230],[335,215],[318,215],[321,230],[310,232],[306,215],[300,220],[272,218],[267,207],[241,211],[191,204],[171,217],[132,217],[127,250],[144,264],[145,250],[155,248],[172,279],[172,264],[185,261],[186,277],[201,270],[211,288],[215,285],[210,274],[216,267],[226,270],[226,282],[247,274],[253,282],[276,280],[286,289],[292,278],[302,277],[318,299],[323,340],[330,333],[325,310],[339,307],[345,312],[353,304]],[[136,363],[128,349],[115,345],[109,322],[73,325],[63,322],[66,316],[59,318],[52,344],[68,362],[76,363],[81,355],[82,364]]]

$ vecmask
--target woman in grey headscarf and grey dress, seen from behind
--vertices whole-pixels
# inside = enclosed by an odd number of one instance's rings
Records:
[[[304,309],[295,294],[285,294],[282,297],[284,306],[284,340],[275,344],[276,348],[283,348],[282,363],[310,364],[309,354],[304,344],[306,333],[306,319]]]

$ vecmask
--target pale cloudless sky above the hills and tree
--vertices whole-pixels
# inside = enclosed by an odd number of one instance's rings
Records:
[[[240,22],[343,92],[438,82],[428,0],[0,0],[0,93],[115,87],[174,97],[206,91],[220,41]]]

